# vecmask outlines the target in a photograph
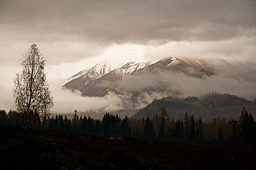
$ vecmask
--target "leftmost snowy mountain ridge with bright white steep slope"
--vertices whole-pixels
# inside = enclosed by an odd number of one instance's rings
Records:
[[[109,73],[116,68],[122,67],[124,64],[125,63],[117,61],[105,60],[90,69],[84,69],[82,71],[79,71],[77,74],[68,78],[69,82],[63,85],[63,87],[72,91],[80,91],[84,85],[87,85],[90,82],[97,80],[98,78],[102,77],[103,75]]]

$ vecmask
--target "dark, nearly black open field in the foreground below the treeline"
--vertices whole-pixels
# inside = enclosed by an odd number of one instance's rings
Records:
[[[254,170],[254,144],[153,140],[0,126],[0,169]]]

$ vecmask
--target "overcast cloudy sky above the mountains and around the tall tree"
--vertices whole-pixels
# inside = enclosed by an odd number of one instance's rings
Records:
[[[255,67],[256,0],[0,0],[0,37],[0,109],[14,108],[13,78],[33,43],[60,103],[65,79],[104,59],[218,56]]]

